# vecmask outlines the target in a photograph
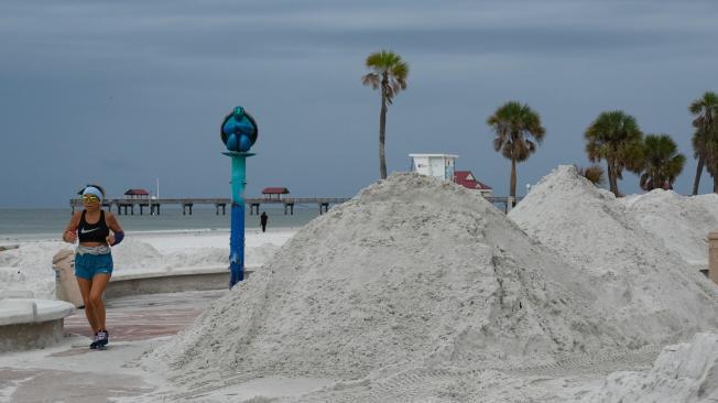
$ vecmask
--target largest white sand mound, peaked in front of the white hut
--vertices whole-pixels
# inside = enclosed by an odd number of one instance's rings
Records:
[[[550,362],[624,344],[574,273],[483,198],[394,174],[300,230],[154,357],[182,384]]]

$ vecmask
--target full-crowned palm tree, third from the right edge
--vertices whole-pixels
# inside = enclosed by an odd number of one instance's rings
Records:
[[[588,160],[606,160],[610,190],[619,196],[618,179],[623,178],[623,170],[640,172],[641,167],[643,134],[635,118],[620,110],[602,112],[584,137]]]

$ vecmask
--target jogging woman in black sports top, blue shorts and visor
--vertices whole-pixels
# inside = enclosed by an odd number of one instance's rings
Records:
[[[112,213],[101,208],[105,190],[98,185],[87,185],[80,194],[85,209],[70,218],[63,232],[63,240],[79,244],[75,251],[75,276],[85,303],[85,316],[95,339],[91,349],[101,348],[110,340],[105,326],[102,294],[112,275],[110,247],[122,241],[124,231]]]

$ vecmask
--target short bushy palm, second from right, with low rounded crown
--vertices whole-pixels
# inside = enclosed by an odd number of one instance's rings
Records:
[[[667,134],[649,134],[643,141],[641,188],[652,190],[673,183],[683,171],[686,157],[678,154],[676,143]]]

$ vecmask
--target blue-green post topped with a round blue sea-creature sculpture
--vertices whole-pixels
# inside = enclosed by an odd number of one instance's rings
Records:
[[[227,146],[222,154],[232,160],[231,232],[229,236],[229,287],[244,280],[244,185],[247,157],[257,141],[254,119],[242,107],[235,107],[221,124],[221,140]]]

